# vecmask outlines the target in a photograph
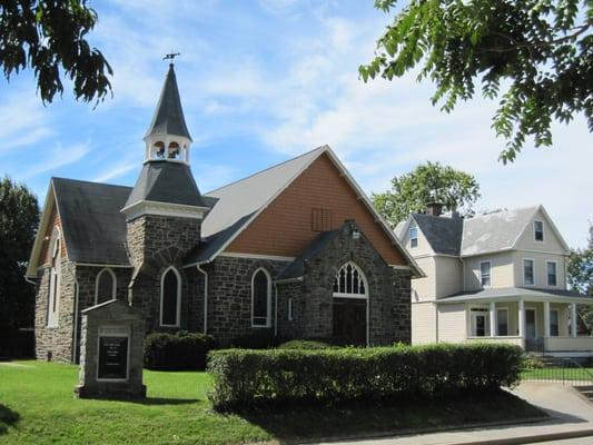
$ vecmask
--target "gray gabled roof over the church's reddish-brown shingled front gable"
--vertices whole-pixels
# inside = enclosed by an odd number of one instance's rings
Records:
[[[210,210],[202,222],[202,236],[208,243],[202,244],[186,261],[186,267],[213,260],[228,246],[271,201],[283,192],[307,167],[319,156],[327,155],[342,176],[356,191],[360,201],[374,215],[393,245],[406,259],[414,276],[422,277],[424,273],[417,266],[409,253],[401,245],[385,219],[376,211],[367,196],[356,184],[346,167],[339,161],[329,146],[322,146],[288,161],[278,164],[266,170],[248,176],[206,194],[207,197],[218,198],[218,202]],[[216,248],[211,247],[216,244]],[[206,254],[208,251],[208,254]]]

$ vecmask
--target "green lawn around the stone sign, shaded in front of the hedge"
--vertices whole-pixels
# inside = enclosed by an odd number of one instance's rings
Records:
[[[205,373],[145,372],[144,403],[72,398],[78,367],[0,363],[0,444],[239,444],[452,428],[543,413],[506,393],[385,406],[294,408],[220,415]],[[471,407],[471,408],[468,408]]]

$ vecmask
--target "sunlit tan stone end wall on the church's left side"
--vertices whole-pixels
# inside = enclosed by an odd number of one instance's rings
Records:
[[[61,277],[58,299],[58,325],[48,327],[50,268],[42,268],[37,275],[36,289],[36,357],[40,360],[72,362],[72,329],[76,296],[75,264],[61,259]]]

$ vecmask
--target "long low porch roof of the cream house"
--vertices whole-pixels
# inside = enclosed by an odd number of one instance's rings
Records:
[[[591,300],[591,303],[593,304],[592,297],[587,297],[586,295],[579,294],[572,290],[544,289],[536,287],[494,287],[472,291],[463,291],[449,295],[444,298],[439,298],[437,303],[463,303],[486,299],[502,299],[505,297],[524,297],[527,299],[530,297],[545,299],[557,299],[560,297],[561,299],[566,300],[570,300],[571,298],[585,298]]]

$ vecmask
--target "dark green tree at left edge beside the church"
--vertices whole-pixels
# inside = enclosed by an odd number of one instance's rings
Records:
[[[34,289],[24,281],[39,222],[37,197],[24,185],[0,180],[0,329],[31,327]]]

